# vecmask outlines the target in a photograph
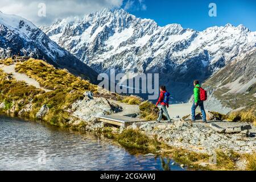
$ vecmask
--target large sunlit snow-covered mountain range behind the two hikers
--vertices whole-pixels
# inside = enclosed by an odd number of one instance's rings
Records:
[[[180,24],[160,27],[154,20],[137,18],[122,9],[57,20],[42,30],[98,73],[110,68],[160,73],[160,84],[169,86],[177,101],[189,99],[193,79],[204,81],[256,47],[256,32],[242,25],[204,31]]]

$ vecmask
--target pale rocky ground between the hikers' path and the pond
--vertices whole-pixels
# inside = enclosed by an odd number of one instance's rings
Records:
[[[213,125],[214,127],[217,127]],[[212,154],[216,149],[234,150],[239,153],[256,151],[255,137],[244,134],[226,134],[201,123],[190,123],[176,119],[174,123],[138,122],[129,128],[142,131],[148,136],[156,136],[169,146],[185,148],[195,152]],[[245,131],[245,130],[243,130]]]

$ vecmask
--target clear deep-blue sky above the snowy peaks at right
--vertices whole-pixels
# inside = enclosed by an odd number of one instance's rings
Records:
[[[217,5],[216,17],[208,15],[212,2]],[[125,0],[122,8],[137,17],[154,19],[160,26],[179,23],[184,28],[201,31],[231,23],[234,26],[243,24],[256,31],[255,0]]]

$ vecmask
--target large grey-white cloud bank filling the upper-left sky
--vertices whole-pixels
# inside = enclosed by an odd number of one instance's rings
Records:
[[[46,17],[38,16],[39,3],[46,4]],[[1,0],[0,11],[20,15],[36,25],[52,23],[57,18],[82,16],[104,8],[120,8],[123,0]]]

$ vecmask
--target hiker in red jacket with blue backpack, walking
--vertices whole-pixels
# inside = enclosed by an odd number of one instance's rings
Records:
[[[171,123],[171,118],[168,114],[168,111],[166,109],[166,107],[168,108],[169,107],[169,97],[170,97],[170,93],[168,93],[166,91],[166,86],[160,86],[160,96],[158,98],[158,102],[156,102],[155,106],[157,107],[158,104],[160,103],[160,111],[159,111],[159,117],[158,119],[156,120],[157,122],[160,122],[161,119],[162,119],[162,116],[163,116],[163,113],[164,115],[166,115],[167,119],[168,119],[168,123]]]

